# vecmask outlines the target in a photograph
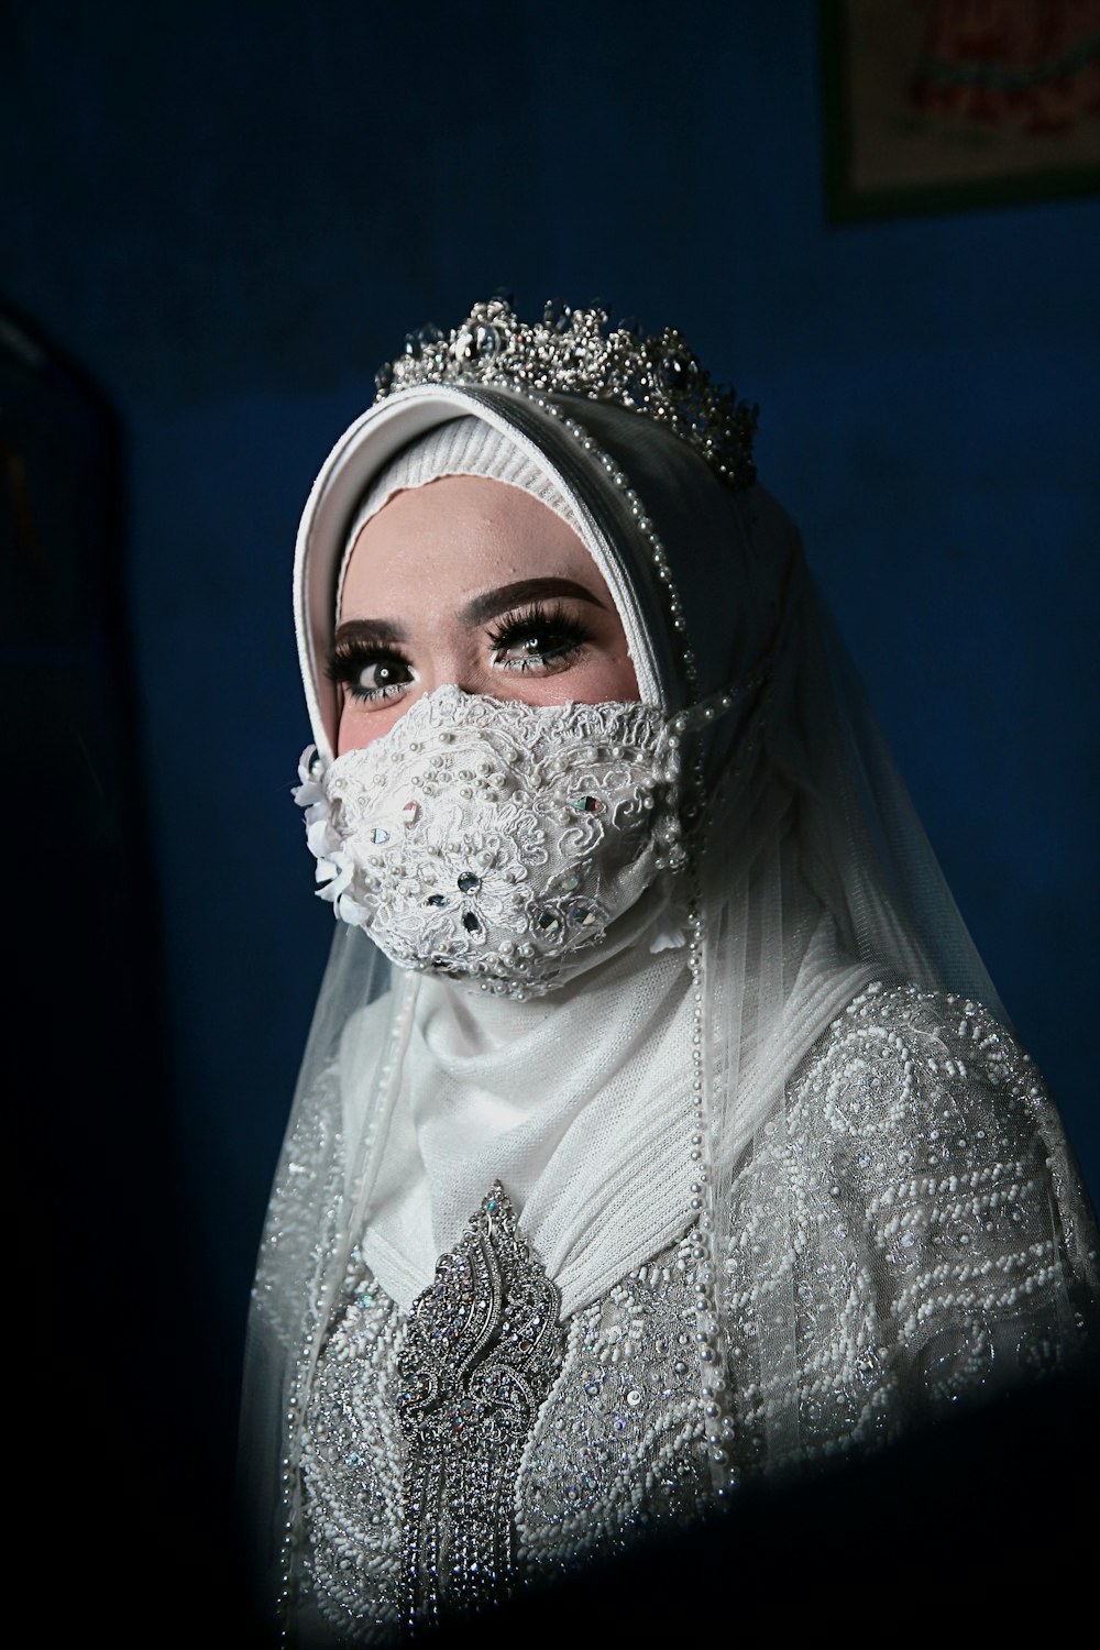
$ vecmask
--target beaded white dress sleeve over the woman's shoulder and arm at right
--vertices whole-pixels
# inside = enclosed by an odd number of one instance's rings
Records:
[[[731,1186],[742,1468],[879,1447],[1070,1358],[1097,1277],[1057,1218],[1072,1183],[1034,1064],[981,1005],[856,997]]]

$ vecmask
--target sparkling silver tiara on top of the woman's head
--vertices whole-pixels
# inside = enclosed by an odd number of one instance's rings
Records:
[[[475,304],[454,332],[421,327],[378,373],[378,399],[416,384],[487,384],[526,394],[585,396],[643,412],[703,454],[732,487],[755,480],[757,408],[712,384],[679,332],[643,338],[637,322],[607,328],[607,310],[551,302],[524,322],[500,295]]]

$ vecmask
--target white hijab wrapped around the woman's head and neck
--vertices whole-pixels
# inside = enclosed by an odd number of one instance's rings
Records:
[[[642,698],[665,713],[764,668],[760,690],[701,751],[709,1138],[701,1153],[688,952],[660,901],[643,898],[579,978],[536,1002],[488,998],[444,978],[397,978],[393,993],[351,1008],[338,1028],[338,1087],[355,1209],[346,1239],[360,1242],[404,1308],[430,1284],[435,1259],[495,1180],[561,1289],[562,1317],[584,1307],[688,1229],[701,1158],[719,1181],[732,1173],[810,1044],[869,978],[940,983],[935,944],[930,950],[912,916],[905,878],[915,873],[925,904],[933,896],[933,942],[942,937],[935,909],[950,894],[927,845],[919,851],[920,828],[900,784],[887,776],[881,789],[884,771],[869,776],[866,752],[853,762],[844,749],[861,706],[838,703],[844,688],[838,693],[826,620],[787,516],[760,488],[734,495],[684,442],[645,417],[590,403],[572,411],[581,437],[506,391],[427,389],[353,426],[318,477],[299,540],[307,701],[318,747],[331,749],[335,705],[318,658],[335,624],[345,546],[384,503],[386,478],[378,477],[396,452],[402,455],[388,474],[399,485],[495,474],[556,508],[617,601]],[[457,416],[444,460],[450,467],[440,469],[440,444],[425,444],[424,432]],[[493,431],[488,446],[498,457],[488,470],[470,460],[485,444],[462,434],[473,421]],[[429,450],[434,460],[417,464],[417,452]],[[651,523],[648,531],[640,521]],[[671,584],[655,578],[653,526]],[[670,587],[679,607],[670,607]],[[684,637],[693,658],[684,658]],[[884,802],[894,828],[907,827],[905,876],[892,863]],[[363,936],[345,944],[355,942],[373,949]],[[976,959],[963,960],[973,987]],[[978,983],[988,1002],[985,975]]]

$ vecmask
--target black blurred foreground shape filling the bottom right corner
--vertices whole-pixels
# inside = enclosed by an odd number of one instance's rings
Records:
[[[754,1627],[769,1642],[792,1630],[839,1643],[988,1642],[991,1629],[1057,1632],[1067,1610],[1084,1612],[1088,1637],[1098,1414],[1093,1356],[877,1459],[742,1490],[724,1518],[508,1605],[495,1640],[566,1645],[582,1630],[589,1643],[722,1643]],[[439,1637],[483,1647],[485,1619]]]

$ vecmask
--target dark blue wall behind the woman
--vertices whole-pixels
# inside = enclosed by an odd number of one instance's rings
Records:
[[[760,403],[762,477],[1097,1186],[1097,203],[828,228],[798,0],[162,13],[5,13],[0,295],[129,439],[153,1104],[221,1389],[331,931],[287,799],[297,513],[406,328],[500,284],[675,320]]]

